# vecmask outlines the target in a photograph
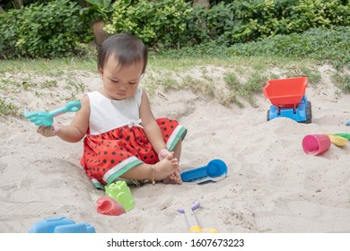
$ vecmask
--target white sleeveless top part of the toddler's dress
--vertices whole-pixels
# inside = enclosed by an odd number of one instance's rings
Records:
[[[90,134],[103,134],[123,125],[140,124],[142,93],[142,89],[138,88],[136,94],[126,100],[109,100],[99,91],[87,93],[90,100]]]

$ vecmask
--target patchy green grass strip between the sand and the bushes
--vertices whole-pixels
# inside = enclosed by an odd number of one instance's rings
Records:
[[[320,62],[315,59],[303,60],[278,56],[234,56],[230,58],[213,56],[198,58],[197,56],[183,56],[173,60],[166,56],[152,56],[149,61],[144,88],[153,93],[158,88],[164,91],[170,89],[188,89],[195,93],[202,93],[207,99],[215,99],[225,106],[237,105],[244,108],[244,101],[255,107],[256,95],[261,94],[267,80],[282,77],[295,77],[306,75],[311,87],[317,87],[320,82],[318,71]],[[227,90],[223,95],[218,89],[218,76],[208,70],[208,67],[220,67],[224,73],[220,76]],[[54,60],[9,60],[0,61],[0,92],[6,96],[15,95],[20,91],[36,89],[35,96],[49,97],[47,91],[57,87],[57,80],[65,80],[64,89],[72,92],[65,100],[76,100],[78,93],[86,91],[83,82],[76,82],[70,78],[74,71],[87,71],[97,74],[96,65],[91,58],[54,59]],[[200,74],[194,75],[195,69]],[[199,69],[199,70],[198,70]],[[26,74],[21,82],[13,78],[6,78],[5,74]],[[38,75],[49,76],[57,80],[48,79],[36,82]],[[23,76],[22,76],[23,78]],[[349,89],[348,76],[338,72],[337,86],[347,92]],[[341,81],[339,81],[341,80]],[[39,90],[38,90],[39,88]],[[2,96],[0,96],[1,98]],[[52,99],[53,97],[51,97]],[[11,100],[2,98],[3,108],[0,116],[16,115],[17,106]]]

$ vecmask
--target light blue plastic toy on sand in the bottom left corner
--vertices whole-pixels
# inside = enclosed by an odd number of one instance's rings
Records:
[[[36,222],[30,233],[95,233],[95,228],[88,222],[75,223],[66,217],[50,217]]]

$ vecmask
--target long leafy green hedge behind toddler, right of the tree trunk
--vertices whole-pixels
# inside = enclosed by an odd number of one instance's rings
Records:
[[[215,2],[209,9],[184,0],[119,0],[106,29],[135,34],[148,46],[175,48],[211,40],[227,45],[349,25],[349,13],[350,4],[339,0],[234,0]]]

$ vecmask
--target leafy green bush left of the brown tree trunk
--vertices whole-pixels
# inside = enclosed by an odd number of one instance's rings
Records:
[[[0,57],[62,57],[83,53],[88,26],[68,0],[31,4],[0,15]]]

